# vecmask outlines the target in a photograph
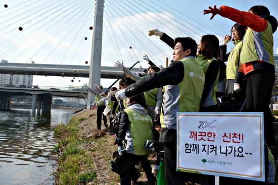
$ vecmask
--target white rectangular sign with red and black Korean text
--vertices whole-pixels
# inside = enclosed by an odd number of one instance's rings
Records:
[[[262,112],[177,112],[177,170],[264,181]]]

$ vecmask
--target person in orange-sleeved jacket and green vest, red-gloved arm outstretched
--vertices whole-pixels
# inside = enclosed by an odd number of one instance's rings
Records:
[[[248,27],[240,53],[240,71],[242,70],[247,77],[246,109],[248,112],[263,112],[264,142],[275,158],[275,133],[269,104],[275,81],[272,34],[277,29],[277,20],[262,5],[253,6],[248,12],[227,6],[214,6],[204,10],[204,14],[212,14],[210,19],[219,14]],[[240,89],[240,84],[234,83],[234,90],[240,91]],[[275,174],[275,169],[271,173],[268,172],[267,183],[274,184],[273,172]]]

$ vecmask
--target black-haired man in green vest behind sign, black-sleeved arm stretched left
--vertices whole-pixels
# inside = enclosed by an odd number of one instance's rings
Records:
[[[186,181],[207,183],[206,175],[176,171],[176,112],[199,112],[205,74],[196,60],[197,43],[190,37],[175,38],[173,63],[157,73],[116,93],[124,99],[140,92],[166,86],[161,109],[159,142],[164,144],[165,176],[167,184]],[[186,160],[186,159],[185,159]]]

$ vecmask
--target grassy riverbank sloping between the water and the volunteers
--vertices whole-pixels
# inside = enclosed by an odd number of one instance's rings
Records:
[[[82,110],[73,115],[68,125],[58,125],[54,136],[58,139],[57,184],[120,184],[119,175],[111,171],[110,162],[115,138],[106,134],[105,127],[97,132],[96,110]],[[155,163],[155,154],[150,162]],[[141,171],[138,185],[148,184]]]

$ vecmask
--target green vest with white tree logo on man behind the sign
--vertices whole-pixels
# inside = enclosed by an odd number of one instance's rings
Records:
[[[161,127],[176,129],[176,112],[199,112],[205,74],[194,57],[180,60],[184,77],[178,85],[165,88],[160,116]]]

